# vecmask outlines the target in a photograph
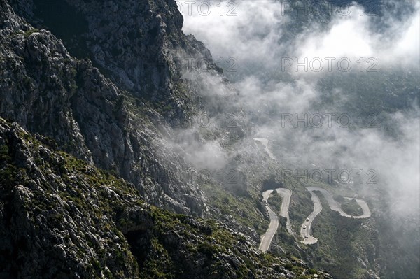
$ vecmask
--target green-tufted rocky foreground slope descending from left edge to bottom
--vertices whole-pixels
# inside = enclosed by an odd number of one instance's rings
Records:
[[[300,261],[263,254],[214,221],[150,206],[134,185],[48,143],[0,118],[1,278],[313,273]]]

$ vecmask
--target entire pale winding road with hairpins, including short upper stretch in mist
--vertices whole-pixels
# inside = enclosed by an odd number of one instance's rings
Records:
[[[264,149],[267,152],[267,154],[269,155],[269,157],[271,159],[276,160],[276,157],[274,157],[272,152],[268,149],[267,138],[254,138],[254,141],[259,141],[260,143],[262,143],[262,145],[264,145]],[[300,236],[302,236],[302,238],[303,238],[303,241],[301,241],[301,242],[304,243],[304,244],[310,245],[310,244],[315,244],[315,243],[318,242],[318,238],[315,238],[314,236],[311,236],[311,226],[312,226],[312,222],[314,222],[315,217],[319,213],[321,213],[322,204],[321,204],[321,201],[320,201],[318,195],[315,194],[314,191],[321,192],[323,194],[323,196],[325,197],[325,199],[327,200],[328,206],[330,206],[331,210],[337,211],[339,213],[339,215],[342,215],[343,217],[361,219],[361,218],[368,218],[371,215],[369,206],[367,206],[367,203],[365,201],[361,200],[361,199],[356,199],[356,202],[358,203],[360,208],[362,208],[363,214],[358,215],[358,216],[353,216],[353,215],[349,215],[349,214],[345,213],[342,210],[339,203],[337,201],[335,201],[335,199],[332,197],[330,192],[328,192],[328,190],[323,189],[321,187],[306,187],[306,188],[311,193],[311,199],[314,202],[314,211],[312,211],[312,213],[307,217],[307,219],[303,222],[302,226],[300,227]],[[269,220],[270,220],[269,227],[268,227],[267,231],[265,232],[265,234],[263,234],[261,236],[261,242],[260,242],[259,249],[264,251],[264,252],[269,249],[269,245],[271,245],[271,243],[272,243],[274,234],[276,234],[276,231],[279,228],[279,217],[276,215],[274,210],[272,210],[272,208],[270,208],[267,204],[269,195],[272,194],[273,191],[274,190],[267,190],[267,191],[262,193],[262,200],[265,201],[265,207],[268,210]],[[287,219],[286,229],[287,229],[289,234],[291,234],[292,236],[295,236],[295,234],[293,234],[293,229],[292,229],[292,226],[290,225],[290,218],[289,218],[289,215],[288,215],[288,210],[289,210],[289,207],[290,207],[290,198],[292,196],[292,192],[290,191],[290,189],[286,189],[286,188],[277,188],[276,192],[278,192],[281,195],[281,198],[282,198],[280,216],[286,217],[286,219]],[[353,198],[349,198],[349,197],[344,196],[344,199],[351,200]]]

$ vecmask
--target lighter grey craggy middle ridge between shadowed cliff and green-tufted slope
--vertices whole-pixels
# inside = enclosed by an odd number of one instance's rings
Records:
[[[116,171],[153,204],[204,215],[204,194],[177,178],[183,176],[173,176],[186,164],[151,122],[159,113],[120,90],[89,61],[71,57],[50,31],[32,29],[6,1],[0,13],[1,116]]]

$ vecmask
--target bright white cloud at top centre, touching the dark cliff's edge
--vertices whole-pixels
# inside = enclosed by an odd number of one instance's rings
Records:
[[[248,62],[272,63],[276,57],[275,46],[281,35],[281,29],[276,27],[283,22],[283,17],[279,15],[281,3],[195,1],[189,13],[187,2],[177,1],[179,7],[183,7],[183,31],[186,34],[194,34],[198,40],[203,41],[215,60],[221,57],[235,57],[239,66]],[[203,2],[210,3],[212,7],[207,16],[198,12],[200,3]],[[223,6],[222,15],[221,8],[216,5]]]

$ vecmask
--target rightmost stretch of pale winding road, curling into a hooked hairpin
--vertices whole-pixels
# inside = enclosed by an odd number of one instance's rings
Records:
[[[361,219],[361,218],[368,218],[370,217],[370,209],[369,206],[367,206],[367,203],[365,201],[362,201],[361,199],[356,199],[356,202],[358,203],[358,205],[360,206],[360,208],[362,208],[363,210],[363,214],[359,215],[359,216],[352,216],[349,215],[347,213],[345,213],[341,206],[339,205],[339,203],[337,201],[335,201],[334,198],[332,198],[332,195],[330,194],[330,192],[328,192],[326,189],[320,188],[320,187],[307,187],[307,190],[311,193],[312,196],[312,201],[314,202],[314,211],[312,211],[312,213],[307,217],[307,219],[309,219],[309,221],[304,221],[302,226],[300,227],[300,236],[302,236],[303,241],[301,241],[304,244],[315,244],[316,242],[318,242],[318,238],[314,238],[314,236],[311,236],[311,225],[312,222],[314,221],[316,215],[318,215],[321,210],[322,210],[322,205],[321,205],[321,201],[319,201],[319,197],[317,194],[315,194],[313,191],[319,191],[323,194],[323,196],[325,197],[325,199],[328,202],[328,206],[330,206],[331,210],[337,211],[339,213],[339,215],[342,215],[344,217],[348,217],[348,218],[356,218],[356,219]],[[352,199],[349,197],[344,197],[344,199]],[[306,229],[304,229],[304,226],[306,226]],[[305,238],[305,236],[308,236],[308,238]]]

